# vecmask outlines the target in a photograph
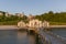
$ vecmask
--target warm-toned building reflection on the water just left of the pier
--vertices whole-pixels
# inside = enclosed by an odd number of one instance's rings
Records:
[[[29,35],[28,32],[18,32],[19,44],[35,44],[34,35]]]

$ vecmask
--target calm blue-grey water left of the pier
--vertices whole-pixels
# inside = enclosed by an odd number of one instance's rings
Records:
[[[35,37],[26,32],[0,30],[0,44],[35,44]]]

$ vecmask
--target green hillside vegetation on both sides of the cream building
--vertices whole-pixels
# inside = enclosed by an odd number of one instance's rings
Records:
[[[54,25],[61,25],[65,24],[66,25],[66,12],[56,12],[54,13],[53,11],[50,11],[47,13],[43,13],[40,15],[35,15],[35,19],[38,19],[41,21],[48,21],[51,24]],[[19,21],[24,21],[25,23],[29,22],[28,16],[24,15],[22,18],[16,16],[16,15],[11,15],[11,16],[6,16],[4,13],[3,15],[0,15],[0,25],[15,25]]]

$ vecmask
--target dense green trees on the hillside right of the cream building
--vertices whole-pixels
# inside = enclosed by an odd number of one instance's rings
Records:
[[[50,11],[48,13],[43,13],[41,15],[35,15],[35,19],[41,21],[50,21],[50,22],[66,22],[66,12],[56,12]]]

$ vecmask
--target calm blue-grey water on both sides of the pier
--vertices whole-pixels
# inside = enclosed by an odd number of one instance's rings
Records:
[[[66,37],[66,28],[52,29],[52,32]],[[29,35],[25,31],[0,30],[0,44],[35,44],[35,36]]]

